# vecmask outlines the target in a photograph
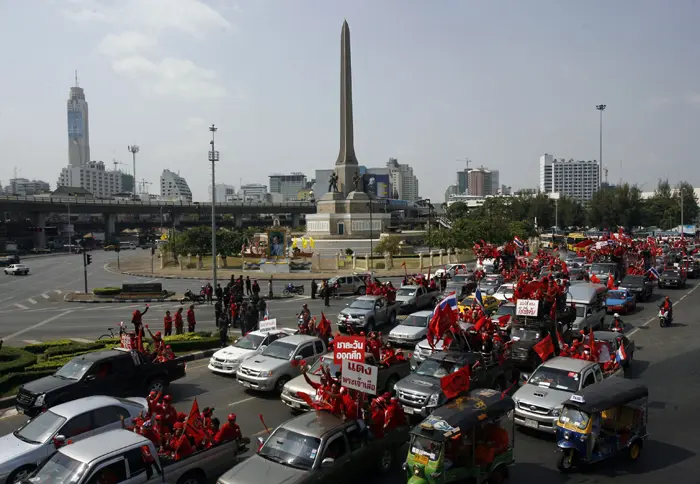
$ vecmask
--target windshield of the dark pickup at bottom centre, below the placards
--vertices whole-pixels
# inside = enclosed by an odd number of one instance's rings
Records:
[[[314,465],[320,446],[320,439],[278,428],[258,451],[258,455],[278,464],[308,471]]]

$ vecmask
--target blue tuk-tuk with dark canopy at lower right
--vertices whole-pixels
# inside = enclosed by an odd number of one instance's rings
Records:
[[[620,453],[637,460],[648,436],[648,396],[645,385],[619,377],[571,395],[556,424],[559,470],[571,472]]]

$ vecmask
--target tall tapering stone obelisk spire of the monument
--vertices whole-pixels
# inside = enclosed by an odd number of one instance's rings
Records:
[[[352,121],[352,67],[347,20],[343,21],[340,31],[340,151],[335,165],[338,191],[347,195],[355,189],[353,178],[359,173]]]

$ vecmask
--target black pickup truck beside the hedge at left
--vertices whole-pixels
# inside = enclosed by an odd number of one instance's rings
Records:
[[[97,351],[73,358],[51,376],[22,385],[15,408],[34,417],[49,407],[89,395],[131,397],[164,392],[184,376],[185,362],[179,359],[152,363],[137,351]]]

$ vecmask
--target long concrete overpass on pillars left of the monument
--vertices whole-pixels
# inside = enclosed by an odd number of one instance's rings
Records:
[[[51,213],[102,214],[105,220],[105,235],[115,233],[116,216],[119,214],[164,214],[172,220],[172,226],[180,224],[184,214],[211,213],[211,202],[156,202],[132,200],[104,200],[81,196],[0,196],[0,212],[26,213],[37,230],[34,246],[46,246],[46,217]],[[217,215],[233,216],[234,227],[242,227],[244,214],[291,214],[292,227],[299,226],[302,214],[316,213],[313,202],[227,202],[216,204]]]

